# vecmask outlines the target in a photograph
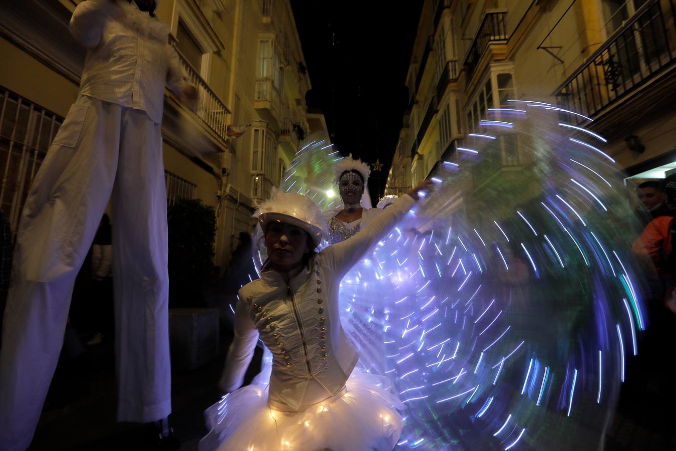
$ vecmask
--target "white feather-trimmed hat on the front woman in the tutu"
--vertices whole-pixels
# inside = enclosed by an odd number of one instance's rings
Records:
[[[253,217],[258,218],[256,237],[263,236],[268,222],[276,220],[295,225],[308,232],[314,247],[317,247],[327,230],[327,223],[322,218],[321,210],[310,197],[285,193],[276,188],[272,188],[270,199],[258,205]]]

